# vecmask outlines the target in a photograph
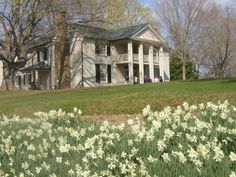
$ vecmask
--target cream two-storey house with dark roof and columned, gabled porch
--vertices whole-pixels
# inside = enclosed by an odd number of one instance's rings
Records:
[[[170,80],[169,49],[151,25],[115,31],[82,25],[74,29],[68,48],[71,88]],[[26,65],[17,72],[17,88],[29,89],[32,82],[40,89],[57,87],[55,41],[45,37],[32,47]]]

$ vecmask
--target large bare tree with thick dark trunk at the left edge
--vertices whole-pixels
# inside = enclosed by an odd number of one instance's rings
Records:
[[[25,60],[33,40],[41,34],[36,27],[47,15],[47,0],[3,0],[0,4],[0,60],[4,66],[5,88],[12,89],[19,61]]]

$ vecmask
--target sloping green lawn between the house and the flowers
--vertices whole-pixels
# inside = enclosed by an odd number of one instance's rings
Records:
[[[36,111],[80,108],[85,115],[139,114],[153,109],[189,103],[228,100],[236,105],[236,79],[173,81],[169,83],[58,91],[0,92],[0,114],[31,116]]]

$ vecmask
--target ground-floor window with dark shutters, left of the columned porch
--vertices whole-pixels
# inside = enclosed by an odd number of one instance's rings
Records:
[[[111,65],[95,64],[96,83],[107,82],[111,83]]]

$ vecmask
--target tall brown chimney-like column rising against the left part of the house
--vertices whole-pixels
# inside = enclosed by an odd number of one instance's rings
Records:
[[[55,29],[55,83],[57,88],[70,87],[69,40],[67,39],[66,10],[56,12]]]

